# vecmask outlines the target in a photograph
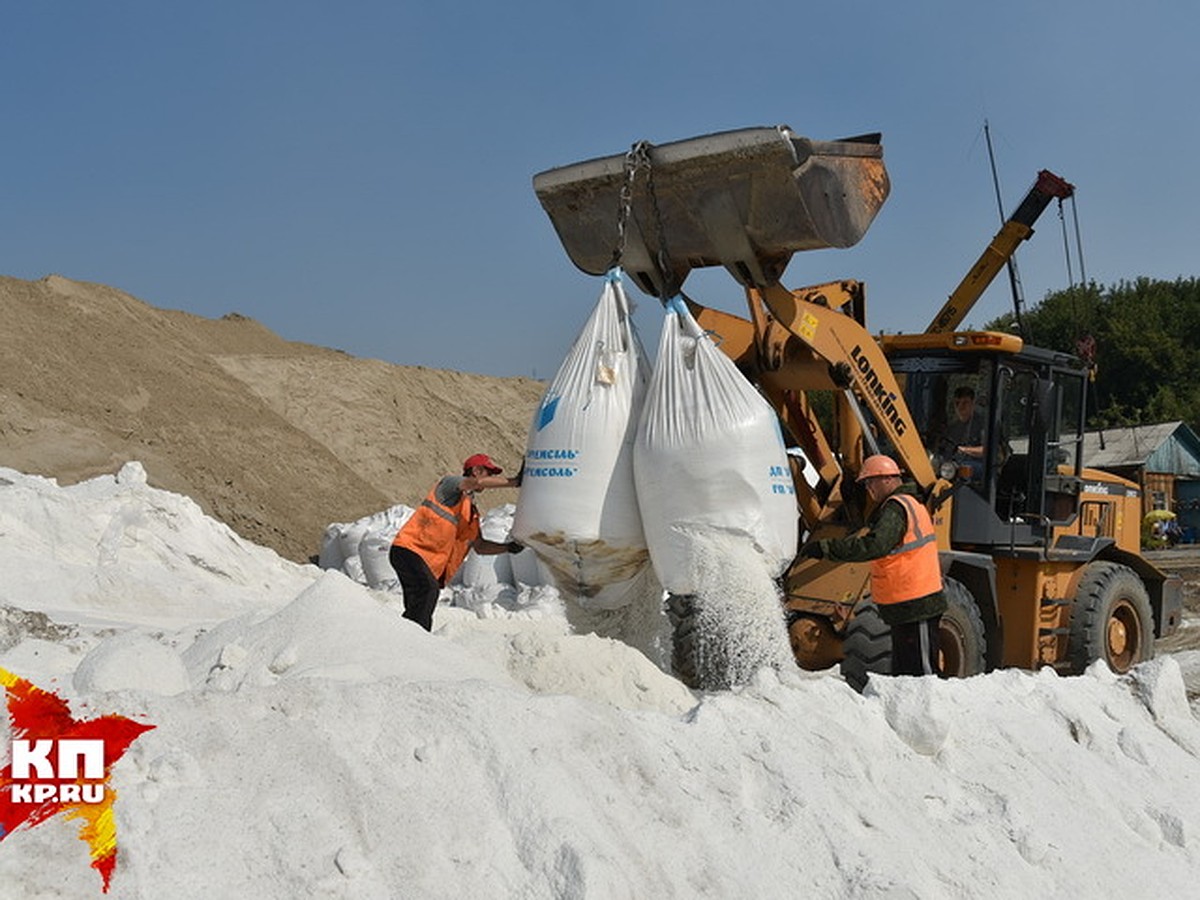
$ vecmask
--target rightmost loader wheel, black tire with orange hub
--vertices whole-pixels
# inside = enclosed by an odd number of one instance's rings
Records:
[[[1067,658],[1075,674],[1098,659],[1123,674],[1154,656],[1154,613],[1138,574],[1127,565],[1088,563],[1075,589]]]

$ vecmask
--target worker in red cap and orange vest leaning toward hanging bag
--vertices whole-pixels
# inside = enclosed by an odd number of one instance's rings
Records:
[[[442,588],[468,551],[496,556],[523,550],[517,541],[490,541],[479,530],[474,494],[488,487],[520,487],[524,464],[514,478],[500,478],[502,472],[487,454],[468,456],[462,475],[445,475],[430,488],[392,541],[388,559],[404,592],[404,618],[426,631],[433,629],[433,610]]]

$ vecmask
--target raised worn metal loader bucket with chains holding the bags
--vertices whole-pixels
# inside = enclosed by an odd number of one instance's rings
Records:
[[[709,265],[746,286],[773,284],[796,251],[857,244],[888,196],[878,134],[822,142],[781,125],[644,148],[619,265],[654,296]],[[534,175],[566,254],[590,275],[614,264],[631,156]]]

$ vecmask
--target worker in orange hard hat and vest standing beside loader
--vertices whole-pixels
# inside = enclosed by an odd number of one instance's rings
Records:
[[[946,612],[934,520],[890,456],[869,456],[858,481],[876,504],[868,530],[809,541],[800,556],[871,562],[871,599],[892,629],[892,674],[940,674],[937,623]]]

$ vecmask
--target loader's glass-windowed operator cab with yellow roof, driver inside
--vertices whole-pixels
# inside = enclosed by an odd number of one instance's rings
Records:
[[[1010,335],[902,337],[882,343],[930,462],[956,484],[952,542],[1048,546],[1051,530],[1079,514],[1082,364]],[[965,421],[967,397],[974,422]],[[978,456],[964,452],[965,434]]]

